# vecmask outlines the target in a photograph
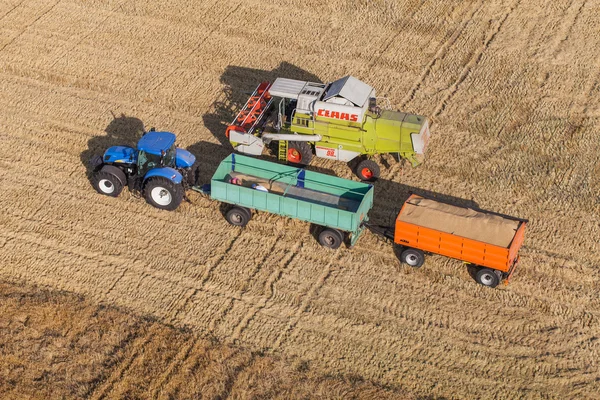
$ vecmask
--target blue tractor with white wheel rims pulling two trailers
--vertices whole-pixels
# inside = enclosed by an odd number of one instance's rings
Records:
[[[92,185],[100,194],[117,197],[124,186],[143,193],[162,210],[175,210],[185,190],[196,184],[198,163],[187,150],[175,146],[175,135],[150,130],[137,149],[113,146],[92,160]]]

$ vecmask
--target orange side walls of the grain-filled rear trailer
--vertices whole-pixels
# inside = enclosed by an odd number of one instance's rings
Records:
[[[504,248],[400,221],[403,210],[396,218],[395,243],[503,272],[510,271],[525,238],[525,222],[520,224],[510,247]]]

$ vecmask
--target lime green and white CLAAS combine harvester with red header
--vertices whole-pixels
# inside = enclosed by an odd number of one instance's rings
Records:
[[[380,173],[370,156],[396,154],[417,166],[430,133],[426,117],[391,110],[374,88],[346,76],[328,84],[263,82],[226,135],[236,151],[250,155],[262,154],[275,141],[278,158],[297,165],[309,164],[313,155],[345,162],[359,158],[354,172],[370,181]]]

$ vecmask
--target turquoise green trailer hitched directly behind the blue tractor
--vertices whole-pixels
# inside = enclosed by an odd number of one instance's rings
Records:
[[[337,248],[348,235],[354,245],[373,207],[373,186],[240,154],[227,156],[210,185],[197,191],[233,205],[229,223],[245,226],[252,211],[266,211],[321,227],[319,242]]]

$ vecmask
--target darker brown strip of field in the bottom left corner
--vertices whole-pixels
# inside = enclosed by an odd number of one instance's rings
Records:
[[[414,399],[64,292],[0,282],[0,396]]]

